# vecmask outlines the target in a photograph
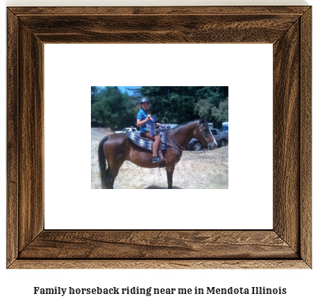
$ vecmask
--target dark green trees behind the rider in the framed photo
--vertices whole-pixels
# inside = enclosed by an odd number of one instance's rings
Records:
[[[135,126],[139,101],[150,101],[157,122],[182,124],[205,116],[221,129],[228,121],[228,86],[141,86],[132,95],[117,86],[91,87],[92,122],[110,129]]]

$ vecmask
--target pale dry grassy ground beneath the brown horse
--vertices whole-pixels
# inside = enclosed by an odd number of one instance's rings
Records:
[[[98,162],[99,142],[112,134],[110,129],[91,129],[91,188],[101,188]],[[174,189],[228,188],[228,145],[213,151],[183,151],[174,170]],[[122,165],[115,189],[165,189],[165,168],[142,168],[126,161]]]

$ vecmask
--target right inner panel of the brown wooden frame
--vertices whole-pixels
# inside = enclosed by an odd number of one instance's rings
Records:
[[[298,252],[300,195],[299,22],[273,44],[273,229]]]

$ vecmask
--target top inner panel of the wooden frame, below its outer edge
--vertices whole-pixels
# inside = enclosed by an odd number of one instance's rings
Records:
[[[44,43],[273,43],[296,15],[22,16]],[[254,31],[253,31],[254,26]],[[48,35],[48,28],[50,34]],[[81,28],[81,31],[79,31]]]

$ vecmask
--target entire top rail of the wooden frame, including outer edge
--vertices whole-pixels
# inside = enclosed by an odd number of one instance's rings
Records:
[[[44,43],[273,43],[307,7],[10,9]]]

